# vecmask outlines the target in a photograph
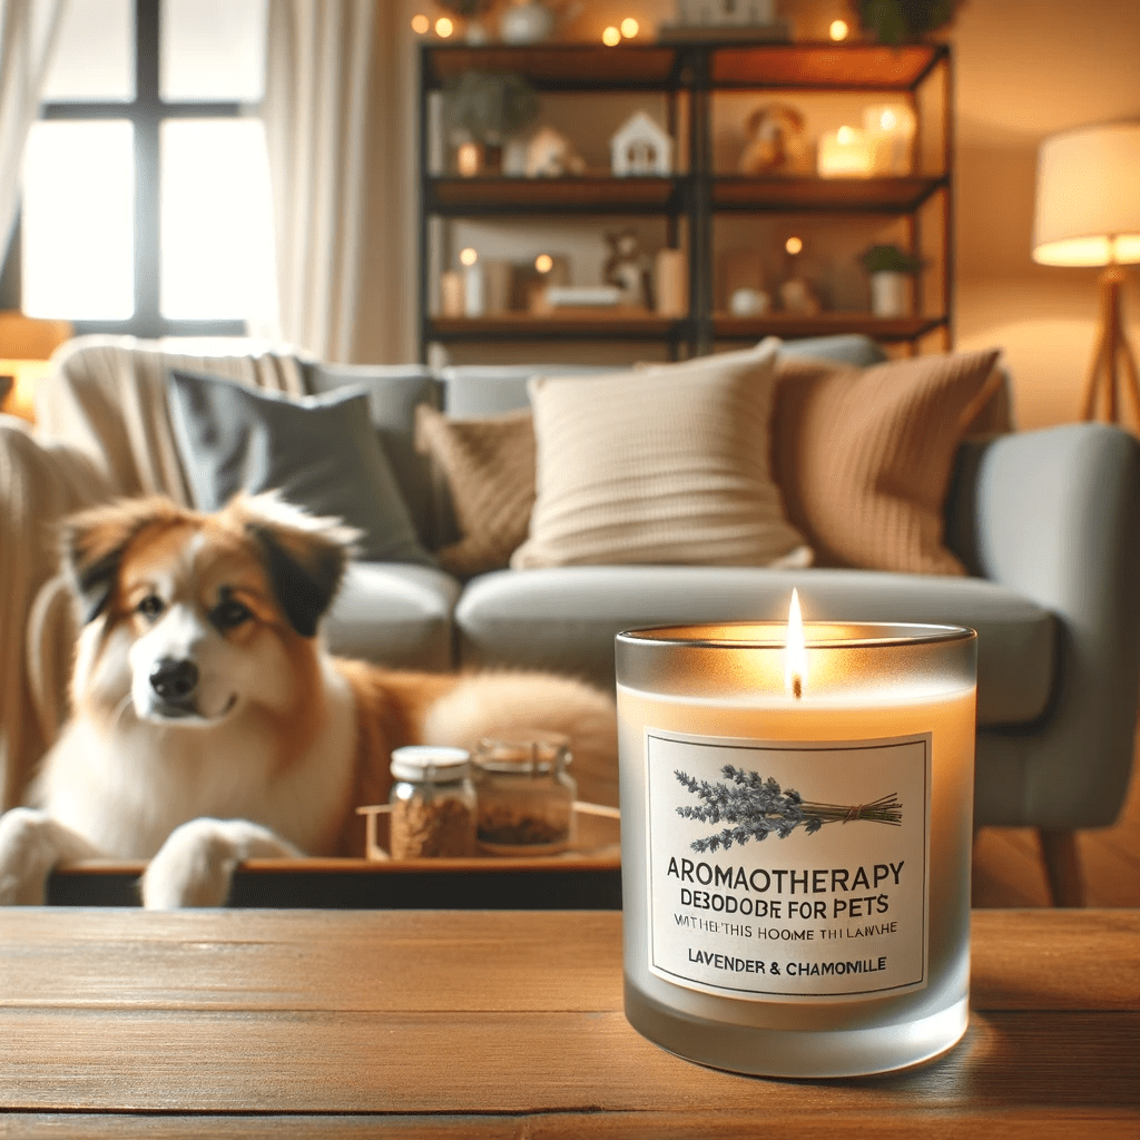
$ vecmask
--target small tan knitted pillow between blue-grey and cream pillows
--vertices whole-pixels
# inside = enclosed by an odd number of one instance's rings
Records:
[[[462,536],[435,552],[439,564],[459,578],[506,567],[527,537],[535,503],[530,409],[453,420],[421,404],[416,447],[442,472]]]

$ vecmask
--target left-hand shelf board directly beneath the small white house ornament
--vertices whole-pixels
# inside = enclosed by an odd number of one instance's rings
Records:
[[[679,209],[677,178],[433,178],[429,209],[442,214]]]

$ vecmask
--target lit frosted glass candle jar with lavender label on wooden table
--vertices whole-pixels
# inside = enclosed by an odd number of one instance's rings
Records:
[[[625,1008],[739,1073],[855,1076],[966,1031],[977,635],[617,637]]]

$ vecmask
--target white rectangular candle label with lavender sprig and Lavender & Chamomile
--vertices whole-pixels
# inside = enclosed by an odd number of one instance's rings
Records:
[[[650,970],[731,997],[927,985],[930,734],[788,741],[649,728]]]

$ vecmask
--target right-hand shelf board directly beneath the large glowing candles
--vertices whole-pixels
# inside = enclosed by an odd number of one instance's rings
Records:
[[[716,210],[852,210],[906,212],[947,185],[945,178],[750,178],[720,176],[712,184]]]

